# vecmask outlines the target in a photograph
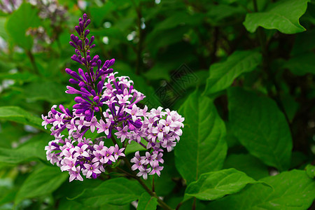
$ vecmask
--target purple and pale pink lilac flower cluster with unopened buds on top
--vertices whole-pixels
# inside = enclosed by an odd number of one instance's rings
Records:
[[[70,181],[83,181],[81,174],[96,179],[107,166],[125,157],[125,148],[135,141],[146,152],[144,156],[139,151],[135,153],[131,160],[132,170],[138,170],[137,176],[144,179],[148,174],[160,176],[163,151],[172,151],[176,146],[184,118],[176,111],[163,111],[162,107],[151,111],[147,106],[139,108],[137,103],[145,96],[134,89],[129,77],[116,76],[117,72],[109,69],[115,59],[106,60],[102,65],[98,55],[91,57],[94,36],[87,38],[89,24],[84,14],[76,26],[78,36],[71,34],[70,45],[76,52],[71,59],[85,67],[85,71],[79,68],[78,72],[66,69],[73,77],[69,82],[78,85],[76,88],[67,86],[66,93],[79,94],[74,98],[77,104],[72,111],[62,105],[57,111],[54,105],[48,116],[42,116],[42,125],[45,129],[52,125],[50,131],[55,137],[45,147],[47,159],[62,171],[69,172]],[[86,139],[88,130],[103,137]],[[64,138],[66,133],[68,137]],[[120,146],[115,136],[122,142]],[[114,146],[106,147],[106,139],[111,139]]]

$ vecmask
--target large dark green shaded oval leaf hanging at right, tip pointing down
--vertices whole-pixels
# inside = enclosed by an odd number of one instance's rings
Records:
[[[231,130],[239,142],[266,165],[288,169],[292,138],[276,103],[240,87],[228,90],[228,102]]]

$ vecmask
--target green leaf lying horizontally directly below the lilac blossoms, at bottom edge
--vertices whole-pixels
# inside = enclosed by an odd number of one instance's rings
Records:
[[[76,200],[90,207],[104,204],[124,205],[138,200],[144,189],[137,181],[125,178],[109,179],[96,188],[86,189]]]

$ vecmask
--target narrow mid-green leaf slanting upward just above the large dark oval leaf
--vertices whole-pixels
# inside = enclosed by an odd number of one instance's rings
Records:
[[[253,71],[260,64],[261,59],[259,52],[236,51],[225,62],[211,65],[204,94],[225,90],[241,73]]]

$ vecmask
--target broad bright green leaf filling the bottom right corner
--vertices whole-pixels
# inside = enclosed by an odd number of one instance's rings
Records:
[[[308,209],[315,198],[315,181],[304,171],[293,170],[260,181],[236,195],[211,202],[208,209]]]

